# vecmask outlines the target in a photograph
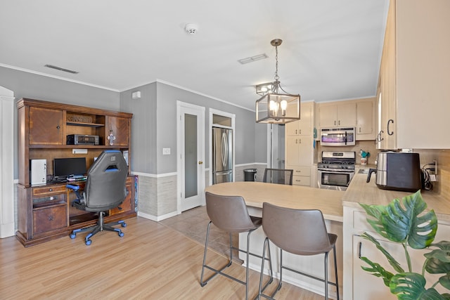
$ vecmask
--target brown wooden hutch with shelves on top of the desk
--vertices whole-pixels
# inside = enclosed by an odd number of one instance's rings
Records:
[[[105,149],[130,155],[132,114],[27,98],[17,107],[20,185],[30,186],[30,159],[46,159],[47,175],[52,175],[55,158],[82,155],[90,167]],[[68,145],[72,135],[98,136],[98,144]],[[78,154],[77,149],[83,150]]]

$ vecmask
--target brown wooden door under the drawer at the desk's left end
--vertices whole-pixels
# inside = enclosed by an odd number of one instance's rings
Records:
[[[66,226],[68,226],[67,205],[33,209],[34,234],[45,233]]]

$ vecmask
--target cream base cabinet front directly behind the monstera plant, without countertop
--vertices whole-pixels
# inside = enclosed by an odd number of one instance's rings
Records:
[[[427,200],[425,199],[425,202]],[[361,237],[364,232],[369,233],[377,239],[383,247],[394,256],[405,270],[408,268],[406,264],[404,248],[401,244],[390,242],[380,237],[375,230],[366,221],[367,215],[362,208],[346,207],[344,204],[344,223],[343,223],[343,240],[344,240],[344,298],[349,300],[356,299],[385,299],[394,300],[396,296],[390,293],[381,278],[366,272],[361,266],[368,266],[360,257],[365,256],[371,261],[380,263],[381,266],[394,272],[392,267],[387,262],[387,259],[381,252],[376,249],[372,242]],[[449,240],[450,236],[450,222],[449,216],[439,219],[438,216],[438,230],[435,237],[435,242],[441,240]],[[347,244],[348,243],[348,244]],[[351,245],[351,246],[350,246]],[[421,273],[425,257],[423,254],[430,252],[430,249],[411,249],[408,252],[411,256],[411,263],[413,272]],[[351,270],[351,272],[350,272]],[[427,287],[432,285],[431,282],[436,282],[439,275],[430,275],[425,273],[427,279]],[[444,292],[442,287],[437,287],[439,292]]]

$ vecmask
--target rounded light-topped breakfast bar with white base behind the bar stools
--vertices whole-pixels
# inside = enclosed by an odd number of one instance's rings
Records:
[[[325,190],[319,188],[310,188],[302,185],[280,185],[274,183],[261,183],[253,181],[241,181],[233,183],[219,183],[210,185],[205,189],[217,195],[238,195],[242,196],[247,204],[248,211],[253,216],[262,216],[262,204],[270,202],[271,204],[281,207],[289,207],[293,209],[320,209],[328,229],[328,232],[338,235],[336,242],[336,255],[338,257],[338,278],[340,291],[342,291],[342,197],[345,192],[339,190]],[[314,226],[314,224],[311,224]],[[299,228],[299,230],[310,230],[311,228]],[[262,254],[264,243],[264,232],[262,228],[255,230],[250,237],[250,252]],[[245,248],[247,245],[246,234],[239,237],[239,245]],[[274,263],[275,276],[278,276],[275,270],[278,265],[276,255],[276,247],[272,247],[272,261]],[[245,255],[240,254],[240,259],[245,261]],[[333,259],[330,258],[330,263]],[[288,252],[283,252],[283,265],[301,266],[301,269],[323,277],[323,256],[295,256]],[[261,261],[254,257],[250,257],[250,268],[259,271],[261,269]],[[333,268],[328,268],[328,278],[334,278]],[[283,281],[289,282],[298,287],[309,289],[316,294],[324,294],[323,283],[311,278],[306,278],[293,273],[283,273]],[[335,293],[335,287],[329,287],[330,294]]]

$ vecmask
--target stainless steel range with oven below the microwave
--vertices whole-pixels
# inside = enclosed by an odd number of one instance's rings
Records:
[[[354,176],[356,153],[354,151],[323,151],[317,164],[319,188],[347,190]]]

